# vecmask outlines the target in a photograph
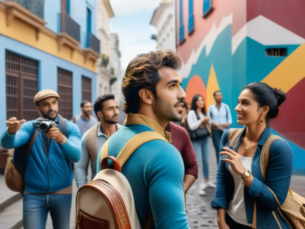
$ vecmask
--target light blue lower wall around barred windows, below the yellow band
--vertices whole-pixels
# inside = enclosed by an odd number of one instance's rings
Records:
[[[5,49],[14,52],[18,55],[25,56],[38,61],[38,91],[43,89],[52,89],[57,91],[57,67],[72,72],[73,86],[73,115],[81,112],[80,104],[82,100],[81,78],[82,75],[91,78],[91,100],[96,99],[96,73],[72,64],[66,60],[52,56],[48,53],[34,49],[21,42],[17,42],[11,38],[0,35],[0,107],[3,112],[0,112],[0,132],[6,128],[6,92],[5,92]],[[60,113],[60,111],[59,111]]]

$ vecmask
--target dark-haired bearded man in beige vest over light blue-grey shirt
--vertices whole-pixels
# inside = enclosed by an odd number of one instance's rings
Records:
[[[87,173],[89,159],[91,162],[91,180],[96,174],[96,157],[99,149],[121,125],[118,124],[118,106],[113,94],[105,94],[94,102],[94,113],[99,122],[91,127],[81,138],[82,154],[75,164],[75,181],[77,188],[88,183]]]

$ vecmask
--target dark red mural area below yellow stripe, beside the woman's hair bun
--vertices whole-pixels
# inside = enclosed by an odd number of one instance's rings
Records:
[[[271,127],[285,138],[305,149],[305,78],[288,91],[286,100],[279,108],[279,115],[271,122]]]

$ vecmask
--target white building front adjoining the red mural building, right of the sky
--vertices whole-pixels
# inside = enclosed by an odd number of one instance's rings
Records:
[[[157,42],[156,50],[176,52],[175,0],[162,0],[153,12],[150,25],[156,28],[156,34],[152,35]]]

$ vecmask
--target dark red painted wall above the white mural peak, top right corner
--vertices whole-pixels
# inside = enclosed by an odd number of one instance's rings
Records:
[[[293,33],[305,38],[304,0],[248,0],[247,21],[263,15]]]

